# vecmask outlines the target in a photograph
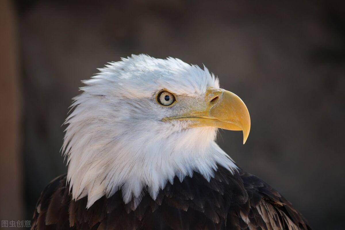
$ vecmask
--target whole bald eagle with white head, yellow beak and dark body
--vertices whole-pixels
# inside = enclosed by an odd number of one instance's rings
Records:
[[[51,181],[32,229],[310,229],[215,142],[250,130],[244,102],[204,66],[132,55],[83,81],[66,119],[68,173]]]

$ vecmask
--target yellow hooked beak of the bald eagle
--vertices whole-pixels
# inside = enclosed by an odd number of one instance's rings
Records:
[[[191,109],[178,117],[164,118],[163,121],[193,121],[188,127],[217,127],[227,130],[242,130],[243,144],[250,131],[249,112],[244,102],[234,93],[224,89],[208,87],[205,94],[205,105],[201,111]],[[199,107],[200,108],[200,107]]]

